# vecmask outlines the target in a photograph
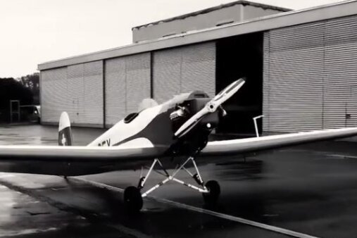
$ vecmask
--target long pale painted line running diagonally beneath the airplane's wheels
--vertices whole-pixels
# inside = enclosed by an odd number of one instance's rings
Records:
[[[111,185],[103,184],[101,182],[94,182],[92,180],[85,180],[85,179],[80,178],[80,177],[68,177],[68,179],[77,180],[77,181],[84,182],[84,183],[87,183],[87,184],[92,184],[95,187],[101,187],[101,188],[109,189],[109,190],[112,190],[112,191],[115,191],[115,192],[123,192],[124,191],[124,189],[121,189],[119,187],[113,187]],[[287,234],[290,237],[318,238],[318,237],[313,237],[313,236],[308,235],[308,234],[303,234],[303,233],[300,233],[300,232],[294,232],[292,230],[287,230],[287,229],[284,229],[284,228],[275,227],[273,225],[266,225],[266,224],[263,224],[263,223],[257,223],[257,222],[255,222],[253,220],[246,220],[244,218],[238,218],[238,217],[235,217],[233,215],[227,215],[227,214],[224,214],[224,213],[218,213],[218,212],[210,211],[210,210],[203,209],[203,208],[197,208],[195,206],[186,205],[184,203],[178,203],[176,201],[170,201],[168,199],[157,198],[155,196],[146,196],[145,199],[148,199],[148,200],[151,200],[151,201],[158,201],[158,202],[161,202],[161,203],[170,204],[172,206],[176,206],[177,208],[184,208],[184,209],[187,209],[189,211],[195,211],[195,212],[198,212],[198,213],[204,213],[204,214],[207,214],[207,215],[213,215],[213,216],[218,217],[218,218],[223,218],[223,219],[226,219],[226,220],[232,220],[232,221],[237,222],[237,223],[242,223],[242,224],[246,224],[246,225],[251,225],[253,227],[258,227],[258,228],[261,228],[263,230],[270,230],[272,232],[277,232],[277,233],[280,233],[280,234]]]

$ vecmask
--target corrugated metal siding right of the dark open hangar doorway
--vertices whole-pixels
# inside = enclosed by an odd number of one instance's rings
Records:
[[[357,125],[356,32],[350,16],[265,33],[263,130]]]

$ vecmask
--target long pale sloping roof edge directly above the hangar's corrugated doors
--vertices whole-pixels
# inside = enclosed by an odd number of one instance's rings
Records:
[[[311,23],[318,20],[327,20],[332,18],[340,18],[347,15],[357,14],[357,1],[349,0],[342,1],[337,4],[328,4],[314,8],[307,8],[299,11],[289,11],[276,15],[269,15],[263,18],[255,18],[246,20],[240,23],[232,23],[219,27],[212,27],[204,30],[195,30],[183,34],[164,37],[150,41],[129,44],[114,49],[97,51],[90,54],[62,58],[56,61],[49,61],[38,65],[39,70],[50,68],[59,68],[65,65],[74,65],[90,61],[99,61],[104,58],[114,58],[130,54],[139,54],[146,51],[154,51],[158,49],[166,49],[175,46],[186,44],[194,44],[198,42],[208,42],[215,39],[232,37],[234,35],[243,35],[251,32],[261,32],[291,25],[299,25],[303,23]]]

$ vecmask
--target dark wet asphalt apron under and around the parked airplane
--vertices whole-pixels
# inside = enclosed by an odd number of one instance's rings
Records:
[[[75,144],[85,145],[102,132],[73,128]],[[51,126],[0,127],[0,144],[50,145],[57,144],[56,137]],[[80,180],[0,173],[0,236],[289,237],[234,219],[244,218],[300,237],[357,237],[356,143],[320,142],[201,166],[203,179],[220,182],[220,201],[213,208],[203,205],[201,194],[169,183],[151,195],[175,203],[145,199],[141,213],[127,213],[122,192],[100,184],[136,185],[140,171]],[[185,173],[179,177],[191,181]],[[161,180],[153,174],[146,188]]]

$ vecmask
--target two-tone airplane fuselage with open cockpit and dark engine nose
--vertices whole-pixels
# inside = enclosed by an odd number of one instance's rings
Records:
[[[193,154],[208,141],[208,134],[218,124],[218,113],[201,121],[182,138],[175,131],[209,101],[204,92],[181,94],[163,104],[131,113],[88,146],[118,146],[120,148],[161,147],[165,155]],[[207,126],[208,125],[208,126]]]

